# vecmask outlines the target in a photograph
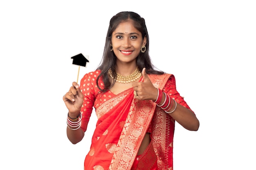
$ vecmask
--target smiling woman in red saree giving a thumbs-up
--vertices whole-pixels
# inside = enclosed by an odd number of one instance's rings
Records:
[[[67,137],[80,142],[93,107],[97,124],[85,170],[173,168],[175,121],[197,131],[199,121],[176,91],[175,78],[156,70],[148,54],[144,18],[117,13],[110,20],[99,67],[63,96]]]

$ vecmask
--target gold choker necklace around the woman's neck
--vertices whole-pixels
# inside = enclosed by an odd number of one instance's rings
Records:
[[[111,68],[108,70],[108,73],[109,73],[110,77],[112,79],[114,79]],[[139,68],[137,67],[135,72],[133,72],[129,76],[122,76],[121,74],[117,73],[116,82],[118,82],[118,83],[131,83],[131,82],[136,81],[140,76],[141,76],[141,72],[139,72]]]

